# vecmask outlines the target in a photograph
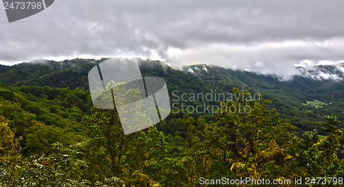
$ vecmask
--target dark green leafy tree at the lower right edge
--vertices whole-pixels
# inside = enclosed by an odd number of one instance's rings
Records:
[[[343,145],[343,129],[335,116],[325,116],[323,131],[328,135],[319,140],[318,132],[305,132],[298,144],[297,167],[301,176],[343,177],[344,165],[337,152]]]

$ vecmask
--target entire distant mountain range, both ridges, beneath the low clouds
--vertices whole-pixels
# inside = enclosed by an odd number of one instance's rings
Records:
[[[53,88],[80,88],[88,90],[87,75],[96,64],[107,60],[74,59],[54,62],[40,60],[14,66],[0,66],[0,82],[10,86],[49,86]],[[163,62],[138,59],[142,76],[163,77],[173,99],[185,95],[186,105],[201,105],[190,93],[230,93],[233,88],[261,93],[263,99],[272,99],[272,107],[294,125],[308,131],[320,126],[324,115],[336,115],[344,120],[343,63],[337,66],[298,67],[300,75],[281,81],[276,75],[260,75],[206,64],[171,68]],[[334,77],[334,78],[329,78]],[[218,105],[219,101],[204,101]],[[174,108],[175,109],[175,108]],[[194,114],[195,115],[195,114]]]

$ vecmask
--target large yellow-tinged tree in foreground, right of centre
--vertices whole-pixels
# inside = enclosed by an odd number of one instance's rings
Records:
[[[216,122],[204,129],[204,140],[193,137],[189,156],[183,158],[189,182],[197,184],[201,176],[293,177],[295,127],[267,108],[270,101],[253,100],[237,88],[233,93],[237,99],[222,103]]]

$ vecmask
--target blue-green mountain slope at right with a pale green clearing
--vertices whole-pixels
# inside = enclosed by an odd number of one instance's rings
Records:
[[[308,76],[310,73],[321,75],[321,72],[326,72],[328,76],[341,77],[343,72],[337,68],[316,66],[313,71],[302,68],[303,74],[295,75],[288,81],[281,81],[276,75],[259,75],[206,64],[184,66],[182,71],[194,75],[213,88],[230,91],[230,87],[235,86],[250,89],[251,92],[261,92],[263,99],[273,100],[273,107],[277,108],[283,118],[289,119],[303,130],[312,130],[319,129],[320,119],[324,115],[336,115],[338,119],[344,119],[343,79],[316,79]]]

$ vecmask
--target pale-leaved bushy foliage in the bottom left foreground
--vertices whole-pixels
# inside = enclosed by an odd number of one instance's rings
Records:
[[[52,152],[32,155],[22,160],[15,186],[89,186],[80,173],[87,168],[83,160],[83,143],[65,147],[51,145]]]

